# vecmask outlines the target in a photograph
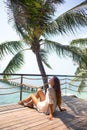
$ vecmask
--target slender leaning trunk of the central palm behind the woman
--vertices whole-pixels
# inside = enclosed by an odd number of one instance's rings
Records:
[[[48,88],[48,85],[47,85],[48,78],[46,76],[46,72],[45,72],[45,69],[43,67],[43,64],[42,64],[42,61],[41,61],[41,56],[40,56],[39,52],[37,52],[35,54],[36,54],[36,59],[37,59],[38,67],[39,67],[40,73],[42,75],[42,80],[43,80],[44,89],[45,89],[45,93],[46,93],[46,90]]]

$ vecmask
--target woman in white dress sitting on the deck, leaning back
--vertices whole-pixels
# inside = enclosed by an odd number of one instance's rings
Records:
[[[30,106],[32,108],[33,105],[35,105],[39,112],[49,114],[48,119],[51,120],[53,117],[53,112],[56,110],[57,106],[60,111],[64,111],[66,109],[61,108],[61,89],[59,79],[57,77],[53,77],[48,83],[51,88],[47,89],[46,95],[43,93],[42,89],[38,89],[35,95],[30,95],[26,99],[18,102],[18,104]],[[38,98],[40,98],[40,100],[38,100]]]

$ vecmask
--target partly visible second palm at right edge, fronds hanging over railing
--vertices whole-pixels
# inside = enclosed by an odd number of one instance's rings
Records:
[[[76,62],[78,65],[75,72],[76,77],[70,82],[70,84],[74,84],[79,81],[78,92],[81,92],[84,87],[87,86],[87,38],[74,39],[71,41],[70,45],[74,47],[78,46],[82,51],[81,56],[84,58],[84,62]]]

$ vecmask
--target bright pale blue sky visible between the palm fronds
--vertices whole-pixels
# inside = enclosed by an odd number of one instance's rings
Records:
[[[8,22],[7,8],[4,3],[5,0],[0,1],[0,43],[6,41],[15,41],[20,40],[20,37],[16,33],[12,24]],[[66,0],[65,4],[58,7],[59,14],[67,11],[68,9],[74,7],[75,5],[83,2],[84,0]],[[53,40],[56,40],[62,44],[69,44],[72,39],[87,37],[87,27],[77,30],[77,33],[65,35],[65,36],[56,36],[53,37]],[[7,56],[0,62],[0,73],[3,72],[7,63],[9,63],[11,56]],[[70,58],[58,57],[56,54],[50,54],[48,57],[48,62],[51,65],[52,69],[45,67],[47,74],[57,74],[57,75],[74,75],[77,65],[73,63]],[[23,67],[16,73],[26,73],[26,74],[39,74],[39,69],[36,62],[36,57],[32,52],[27,51],[25,53],[25,64]]]

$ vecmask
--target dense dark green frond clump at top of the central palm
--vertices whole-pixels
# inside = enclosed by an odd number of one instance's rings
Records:
[[[17,32],[25,38],[31,33],[31,28],[38,25],[44,30],[47,23],[52,21],[56,10],[55,5],[63,2],[64,0],[8,0],[9,21],[14,21]]]

